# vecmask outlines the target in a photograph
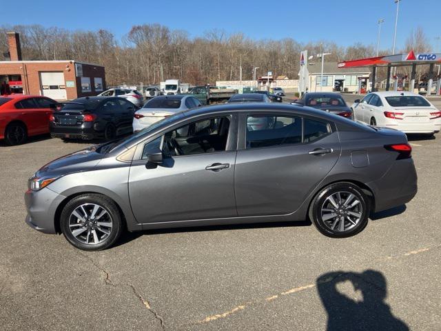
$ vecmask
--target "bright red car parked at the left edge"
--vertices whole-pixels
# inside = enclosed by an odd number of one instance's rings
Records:
[[[50,106],[57,103],[39,95],[10,94],[0,97],[0,139],[8,145],[49,133]]]

